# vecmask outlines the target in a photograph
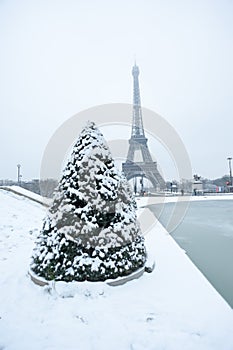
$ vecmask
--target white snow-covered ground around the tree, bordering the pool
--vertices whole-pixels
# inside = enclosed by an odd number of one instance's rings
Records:
[[[0,190],[0,213],[1,350],[233,349],[232,309],[159,223],[146,235],[152,274],[42,288],[27,271],[45,209]]]

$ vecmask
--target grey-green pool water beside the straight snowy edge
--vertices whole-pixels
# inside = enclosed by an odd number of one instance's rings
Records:
[[[149,208],[166,227],[174,205]],[[190,203],[171,235],[233,308],[233,200]]]

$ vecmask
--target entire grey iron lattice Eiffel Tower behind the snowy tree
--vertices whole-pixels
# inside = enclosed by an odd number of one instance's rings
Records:
[[[142,122],[142,109],[139,90],[139,68],[136,63],[132,70],[134,90],[133,90],[133,122],[131,138],[129,140],[129,150],[127,160],[122,164],[122,170],[127,180],[140,177],[141,188],[143,191],[143,178],[147,178],[152,183],[154,189],[161,190],[165,188],[165,181],[157,169],[157,162],[152,160],[148,145],[147,138]],[[140,155],[141,160],[137,161],[136,156]],[[136,192],[136,189],[135,189]]]

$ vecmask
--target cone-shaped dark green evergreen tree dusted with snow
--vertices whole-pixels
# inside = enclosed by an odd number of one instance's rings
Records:
[[[47,280],[103,281],[130,274],[145,260],[131,188],[89,122],[55,190],[31,269]]]

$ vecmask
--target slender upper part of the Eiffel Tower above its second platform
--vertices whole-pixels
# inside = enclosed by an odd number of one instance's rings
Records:
[[[142,109],[141,109],[141,98],[140,98],[140,89],[139,89],[139,68],[134,63],[133,69],[133,123],[132,123],[132,134],[131,138],[144,138],[144,128],[142,122]]]

